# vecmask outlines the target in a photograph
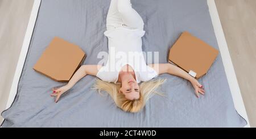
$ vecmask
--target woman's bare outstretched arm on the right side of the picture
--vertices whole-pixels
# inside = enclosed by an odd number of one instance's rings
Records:
[[[205,91],[203,89],[203,86],[183,69],[180,69],[179,67],[172,64],[150,64],[148,66],[153,68],[159,75],[168,73],[187,79],[194,87],[197,98],[199,98],[199,93],[204,95]]]

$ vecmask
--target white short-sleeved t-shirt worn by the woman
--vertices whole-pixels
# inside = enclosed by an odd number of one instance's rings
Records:
[[[145,31],[130,29],[125,26],[105,31],[108,37],[108,62],[98,71],[97,77],[105,82],[117,83],[119,71],[125,65],[133,68],[136,81],[146,82],[158,76],[156,71],[147,66],[142,52],[142,39]]]

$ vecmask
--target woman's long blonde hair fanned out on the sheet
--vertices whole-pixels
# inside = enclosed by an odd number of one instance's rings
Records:
[[[139,112],[145,106],[148,99],[151,98],[152,95],[158,94],[162,95],[162,93],[156,91],[156,89],[162,85],[166,81],[166,79],[158,79],[155,81],[143,82],[139,85],[140,89],[140,97],[137,100],[129,100],[125,98],[125,95],[122,93],[118,93],[121,88],[121,83],[109,83],[101,81],[97,79],[94,89],[97,89],[101,94],[101,91],[106,91],[113,98],[115,104],[123,111],[126,112]],[[102,95],[102,94],[101,94]]]

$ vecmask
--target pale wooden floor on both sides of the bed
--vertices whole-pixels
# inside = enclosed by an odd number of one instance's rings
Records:
[[[256,127],[256,0],[215,0],[251,127]],[[34,0],[0,0],[0,112]],[[1,121],[1,119],[0,119]]]

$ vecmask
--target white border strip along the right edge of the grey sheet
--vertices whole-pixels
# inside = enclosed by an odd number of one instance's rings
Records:
[[[237,112],[240,113],[240,115],[247,121],[247,125],[245,127],[250,127],[249,120],[246,114],[245,105],[243,104],[242,95],[237,82],[236,73],[234,71],[232,60],[230,58],[228,44],[226,43],[225,35],[220,22],[220,17],[218,16],[218,10],[214,0],[208,0],[208,7],[210,17],[212,18],[214,32],[218,41],[218,47],[220,48],[220,53],[224,64],[226,76],[228,78],[228,83],[232,94],[234,107],[237,109]]]

